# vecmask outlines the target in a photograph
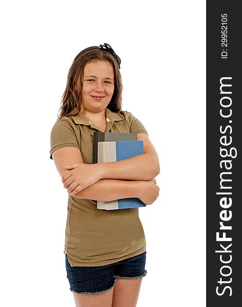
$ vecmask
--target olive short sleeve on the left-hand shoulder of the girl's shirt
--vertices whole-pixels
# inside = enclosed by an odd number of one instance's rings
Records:
[[[80,142],[80,140],[79,140]],[[50,133],[50,159],[52,153],[62,147],[80,148],[74,123],[67,117],[57,119]]]

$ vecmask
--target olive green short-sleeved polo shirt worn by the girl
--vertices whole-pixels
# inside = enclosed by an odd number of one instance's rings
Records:
[[[105,109],[106,132],[147,133],[130,112]],[[83,114],[57,119],[51,130],[50,158],[61,147],[79,148],[83,162],[92,164],[93,133],[101,131]],[[144,209],[143,209],[144,210]],[[72,267],[105,266],[146,251],[138,208],[100,210],[93,200],[68,194],[65,250]]]

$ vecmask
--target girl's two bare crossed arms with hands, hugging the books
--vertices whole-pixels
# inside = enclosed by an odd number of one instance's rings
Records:
[[[137,139],[144,141],[144,155],[116,162],[85,164],[78,148],[55,150],[52,157],[64,187],[81,199],[112,201],[136,197],[152,203],[158,196],[151,202],[152,195],[158,193],[153,180],[159,173],[158,156],[148,135],[138,134]]]

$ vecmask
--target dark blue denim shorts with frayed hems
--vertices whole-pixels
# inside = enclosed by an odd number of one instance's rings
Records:
[[[105,293],[115,286],[115,278],[138,279],[147,274],[146,251],[128,259],[99,267],[71,267],[66,254],[70,290],[77,294]]]

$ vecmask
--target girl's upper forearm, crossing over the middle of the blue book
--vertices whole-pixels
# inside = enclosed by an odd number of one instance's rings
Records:
[[[102,179],[152,180],[159,173],[158,157],[149,153],[129,159],[97,163],[97,171]]]

